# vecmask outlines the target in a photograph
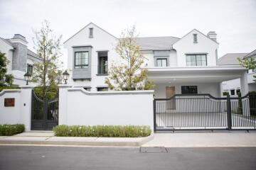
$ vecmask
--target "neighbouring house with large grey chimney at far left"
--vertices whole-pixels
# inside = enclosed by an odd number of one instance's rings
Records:
[[[8,74],[14,75],[14,85],[24,85],[23,75],[26,72],[33,74],[33,63],[42,62],[34,52],[28,49],[28,42],[23,35],[14,34],[13,38],[0,37],[0,51],[6,54],[9,64]]]

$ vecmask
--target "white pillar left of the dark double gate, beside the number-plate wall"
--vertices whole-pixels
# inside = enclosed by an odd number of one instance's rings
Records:
[[[20,86],[21,88],[21,123],[25,125],[25,131],[31,130],[31,94],[34,86]]]

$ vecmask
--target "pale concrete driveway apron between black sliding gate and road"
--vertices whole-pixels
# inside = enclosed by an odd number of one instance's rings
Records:
[[[256,147],[256,132],[155,133],[142,147]]]

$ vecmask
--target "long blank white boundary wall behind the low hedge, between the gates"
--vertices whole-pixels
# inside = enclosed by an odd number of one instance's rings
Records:
[[[149,125],[154,91],[99,91],[60,85],[59,125]]]

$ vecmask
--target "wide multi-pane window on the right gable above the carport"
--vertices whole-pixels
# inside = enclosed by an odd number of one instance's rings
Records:
[[[206,55],[186,55],[187,66],[206,66]]]

